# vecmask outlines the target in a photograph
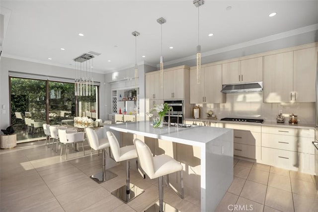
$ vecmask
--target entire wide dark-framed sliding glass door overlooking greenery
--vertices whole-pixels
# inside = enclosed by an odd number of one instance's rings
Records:
[[[75,96],[74,83],[10,77],[10,98],[11,124],[20,142],[45,139],[44,123],[99,117],[98,86],[94,95]]]

